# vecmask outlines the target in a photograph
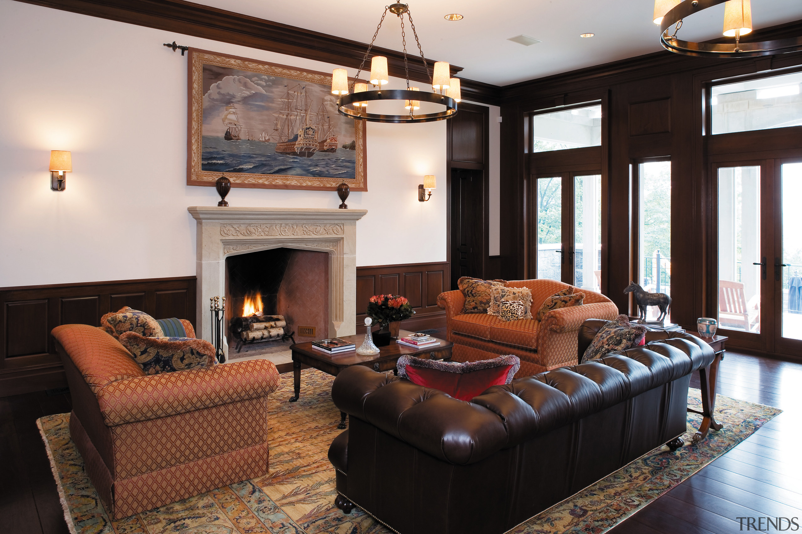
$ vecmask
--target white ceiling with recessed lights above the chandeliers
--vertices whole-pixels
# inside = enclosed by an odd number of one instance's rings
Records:
[[[291,26],[370,42],[384,6],[376,0],[194,0],[201,4]],[[407,1],[407,0],[404,0]],[[690,0],[687,0],[690,1]],[[408,0],[427,58],[464,67],[459,74],[507,85],[661,50],[652,0]],[[802,19],[800,0],[752,0],[755,29]],[[459,13],[458,22],[444,15]],[[685,40],[721,36],[723,4],[695,14],[678,34]],[[407,25],[408,26],[408,25]],[[593,38],[579,34],[592,32]],[[522,46],[507,38],[525,34],[542,42]],[[402,50],[399,19],[388,12],[376,44]],[[407,27],[407,51],[417,46]],[[726,60],[723,60],[726,61]]]

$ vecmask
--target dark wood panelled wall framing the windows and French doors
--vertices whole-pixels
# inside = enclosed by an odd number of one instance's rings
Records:
[[[754,32],[750,40],[781,38],[802,31],[802,22]],[[537,159],[528,149],[529,117],[537,110],[579,102],[606,104],[602,122],[602,291],[622,311],[629,298],[622,293],[632,278],[630,256],[632,227],[630,165],[639,159],[671,159],[671,267],[672,319],[691,326],[696,318],[715,312],[715,266],[709,260],[715,245],[711,224],[711,176],[707,165],[720,144],[739,143],[739,134],[703,135],[703,95],[708,84],[720,78],[783,74],[802,65],[802,53],[771,58],[708,59],[670,52],[648,54],[619,62],[502,88],[500,176],[501,278],[525,275],[525,183]],[[603,108],[604,109],[604,108]],[[799,142],[800,126],[780,135],[780,145]],[[771,131],[771,130],[769,130]],[[773,135],[777,138],[779,134]],[[742,150],[768,150],[768,137],[760,149],[741,143]],[[743,137],[743,136],[741,136]],[[750,139],[754,139],[751,132]],[[606,139],[606,141],[605,141]],[[795,139],[795,141],[789,141]],[[580,149],[575,149],[577,154]],[[568,151],[566,151],[568,152]],[[584,153],[582,153],[584,154]],[[581,155],[581,154],[580,154]],[[545,156],[541,159],[545,161]],[[576,163],[574,160],[573,163]],[[556,163],[555,163],[556,164]],[[604,221],[606,220],[606,224]],[[712,288],[712,289],[711,289]]]

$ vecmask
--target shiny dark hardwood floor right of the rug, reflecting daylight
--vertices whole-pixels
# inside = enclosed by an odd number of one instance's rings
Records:
[[[698,375],[691,387],[699,387]],[[751,532],[759,517],[796,517],[802,525],[802,363],[727,351],[718,392],[784,412],[610,534],[749,532],[748,520],[742,530],[739,517],[755,518]],[[766,521],[759,526],[775,532]],[[790,525],[788,532],[795,529]]]

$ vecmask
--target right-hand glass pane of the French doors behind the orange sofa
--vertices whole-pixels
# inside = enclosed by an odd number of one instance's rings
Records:
[[[574,178],[574,285],[600,291],[602,279],[602,175]]]

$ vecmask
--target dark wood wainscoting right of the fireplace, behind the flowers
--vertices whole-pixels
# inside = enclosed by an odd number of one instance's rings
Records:
[[[448,262],[400,263],[356,268],[356,324],[365,324],[364,311],[373,295],[403,295],[415,316],[401,324],[405,330],[442,328],[446,312],[437,307],[437,295],[448,291]],[[365,331],[364,326],[358,333]]]

